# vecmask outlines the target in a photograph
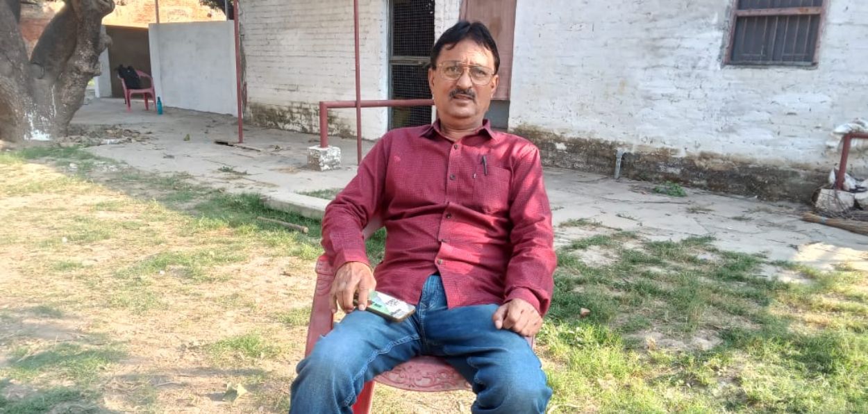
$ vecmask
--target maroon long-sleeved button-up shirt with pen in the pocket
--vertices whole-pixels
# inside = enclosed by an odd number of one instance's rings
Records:
[[[377,290],[417,304],[440,273],[449,307],[524,299],[540,314],[554,288],[549,198],[539,149],[493,131],[450,142],[439,123],[387,133],[325,208],[323,246],[337,269],[368,263],[362,229],[378,214],[385,259]]]

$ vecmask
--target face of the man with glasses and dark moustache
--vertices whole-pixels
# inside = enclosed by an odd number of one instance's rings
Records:
[[[473,40],[464,39],[444,47],[436,63],[436,68],[428,70],[428,84],[440,121],[447,125],[481,124],[499,81],[497,75],[485,76],[483,72],[494,73],[494,55]],[[449,79],[458,71],[461,74],[457,79]]]

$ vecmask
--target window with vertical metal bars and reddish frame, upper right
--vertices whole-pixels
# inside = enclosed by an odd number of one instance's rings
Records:
[[[727,64],[817,64],[824,0],[735,0]]]

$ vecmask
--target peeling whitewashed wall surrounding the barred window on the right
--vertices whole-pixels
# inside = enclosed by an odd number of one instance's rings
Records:
[[[829,167],[868,116],[868,2],[827,0],[819,67],[722,67],[732,0],[519,0],[510,128]]]

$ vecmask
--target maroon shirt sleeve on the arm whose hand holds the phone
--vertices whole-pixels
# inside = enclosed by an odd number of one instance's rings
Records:
[[[371,266],[363,232],[378,214],[382,200],[388,141],[389,135],[385,135],[374,145],[358,166],[355,178],[325,207],[322,246],[335,270],[349,261]]]

